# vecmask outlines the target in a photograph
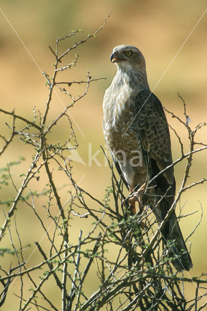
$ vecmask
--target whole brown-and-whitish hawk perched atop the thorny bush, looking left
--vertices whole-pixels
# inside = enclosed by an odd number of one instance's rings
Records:
[[[104,95],[104,138],[130,193],[148,194],[147,202],[139,196],[139,207],[150,203],[161,222],[174,202],[173,166],[147,185],[172,164],[167,119],[159,99],[150,91],[145,59],[138,48],[115,47],[111,62],[116,63],[117,73]],[[135,214],[134,201],[132,198]],[[176,270],[190,270],[192,261],[174,210],[161,233],[165,243],[173,241],[170,255]]]

